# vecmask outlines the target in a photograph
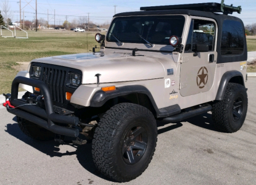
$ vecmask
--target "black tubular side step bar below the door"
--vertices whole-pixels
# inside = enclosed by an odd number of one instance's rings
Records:
[[[199,109],[183,112],[177,115],[173,115],[171,117],[163,118],[163,120],[159,120],[159,121],[165,122],[165,123],[175,123],[177,121],[185,120],[187,118],[191,118],[196,115],[209,112],[210,110],[212,110],[212,105],[206,104],[205,106],[200,107]]]

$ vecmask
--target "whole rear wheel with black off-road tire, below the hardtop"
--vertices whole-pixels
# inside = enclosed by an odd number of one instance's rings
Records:
[[[239,105],[241,108],[235,105]],[[240,114],[240,118],[235,116],[234,107],[237,107],[236,110],[238,110],[237,113]],[[228,83],[223,100],[212,106],[212,118],[215,127],[225,133],[236,132],[242,127],[246,119],[247,107],[246,88],[241,84]]]

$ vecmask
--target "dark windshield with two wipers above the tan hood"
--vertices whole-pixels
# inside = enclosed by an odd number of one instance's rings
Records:
[[[146,44],[146,39],[152,44],[170,45],[170,36],[181,37],[184,22],[182,15],[117,17],[112,21],[107,41]]]

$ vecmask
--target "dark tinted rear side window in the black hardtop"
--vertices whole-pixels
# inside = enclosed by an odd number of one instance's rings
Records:
[[[244,52],[244,27],[236,20],[224,20],[221,35],[221,55],[239,55]]]

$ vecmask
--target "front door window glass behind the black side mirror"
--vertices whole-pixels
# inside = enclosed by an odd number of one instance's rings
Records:
[[[215,24],[209,20],[194,19],[191,21],[185,52],[196,51],[196,44],[207,44],[213,51],[215,41]]]

